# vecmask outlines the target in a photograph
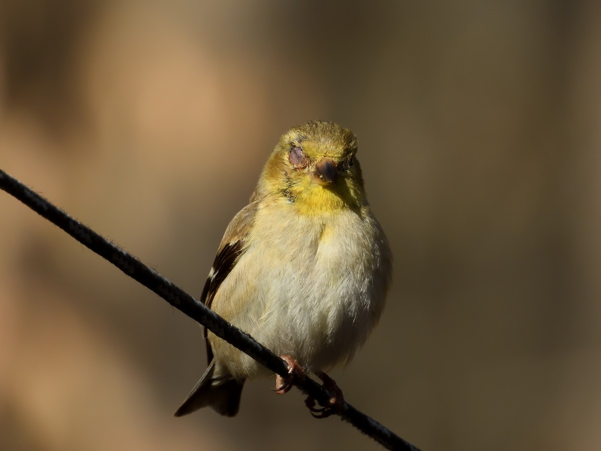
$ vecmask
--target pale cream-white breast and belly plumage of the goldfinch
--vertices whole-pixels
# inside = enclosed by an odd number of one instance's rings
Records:
[[[299,220],[281,206],[264,208],[249,238],[261,245],[240,257],[216,293],[215,311],[306,370],[349,360],[379,319],[390,280],[388,245],[369,210]],[[213,346],[215,355],[234,375],[260,370],[225,345]]]

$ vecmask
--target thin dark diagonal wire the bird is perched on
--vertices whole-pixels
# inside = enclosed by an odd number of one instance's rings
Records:
[[[219,338],[236,346],[240,351],[250,355],[258,363],[269,368],[274,373],[278,373],[281,376],[288,375],[287,365],[284,361],[265,346],[255,341],[249,334],[231,325],[214,311],[172,284],[171,281],[148,268],[148,266],[144,265],[136,257],[112,244],[81,222],[76,221],[76,219],[73,219],[63,210],[54,206],[2,170],[0,170],[0,188],[22,201],[22,203],[39,213],[43,218],[58,225],[58,227],[69,233],[69,235],[85,247],[104,257],[125,274],[129,275],[129,277],[132,277],[148,289],[153,290],[153,292],[157,293],[157,295],[165,299],[169,304],[202,324]],[[328,402],[328,391],[322,385],[313,381],[313,379],[304,378],[303,381],[294,382],[294,385],[308,396],[313,396],[320,404],[326,405]],[[417,447],[398,437],[398,435],[385,426],[380,425],[376,420],[356,410],[349,403],[344,403],[340,416],[343,420],[346,420],[359,429],[359,431],[382,444],[386,449],[419,451]]]

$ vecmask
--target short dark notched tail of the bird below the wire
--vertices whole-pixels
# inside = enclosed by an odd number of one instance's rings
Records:
[[[227,371],[216,375],[215,369],[213,359],[174,416],[181,417],[207,406],[226,417],[233,417],[238,413],[244,381],[237,381]]]

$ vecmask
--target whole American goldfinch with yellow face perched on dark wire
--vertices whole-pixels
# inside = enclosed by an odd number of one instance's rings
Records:
[[[355,135],[332,122],[282,135],[250,203],[225,230],[201,295],[289,369],[297,362],[324,381],[365,342],[391,281],[391,251],[356,152]],[[234,416],[245,380],[269,372],[207,330],[204,339],[209,367],[175,416],[207,406]]]

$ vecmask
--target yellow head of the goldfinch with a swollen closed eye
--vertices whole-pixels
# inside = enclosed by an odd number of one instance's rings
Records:
[[[310,121],[279,140],[259,189],[296,204],[302,213],[358,209],[365,203],[357,140],[333,122]]]

